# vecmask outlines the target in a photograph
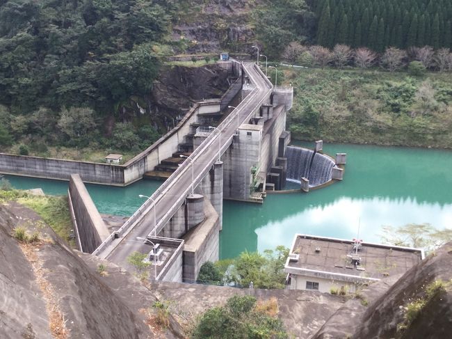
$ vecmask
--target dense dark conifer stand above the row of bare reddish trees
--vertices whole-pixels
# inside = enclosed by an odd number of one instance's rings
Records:
[[[452,47],[451,0],[319,0],[318,45]]]

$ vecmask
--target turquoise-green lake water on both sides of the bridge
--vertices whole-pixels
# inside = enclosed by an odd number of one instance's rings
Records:
[[[452,227],[452,151],[371,145],[326,144],[334,156],[347,153],[344,181],[309,193],[268,194],[264,204],[225,200],[220,258],[241,251],[291,246],[296,233],[380,242],[382,226],[430,223]],[[14,175],[17,189],[40,187],[67,194],[67,182]],[[140,180],[128,187],[87,184],[99,212],[128,216],[161,182]],[[286,188],[298,188],[288,182]]]

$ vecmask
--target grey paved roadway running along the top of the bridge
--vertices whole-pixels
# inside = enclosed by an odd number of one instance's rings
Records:
[[[115,262],[122,267],[127,268],[127,256],[134,251],[150,251],[149,245],[138,240],[147,235],[154,235],[154,208],[155,219],[157,221],[156,230],[158,232],[168,223],[172,215],[184,202],[185,197],[191,192],[192,168],[195,186],[204,178],[209,168],[218,159],[218,145],[221,140],[221,152],[225,152],[232,143],[232,138],[236,133],[238,121],[248,123],[248,120],[260,107],[262,103],[268,100],[271,93],[271,84],[262,76],[261,72],[255,69],[254,63],[244,63],[245,73],[248,74],[250,82],[256,86],[245,100],[234,109],[228,118],[218,126],[221,130],[221,138],[218,137],[218,129],[207,138],[192,155],[184,161],[184,164],[166,180],[164,184],[153,195],[152,199],[140,207],[140,210],[131,217],[124,228],[122,237],[113,240],[103,251],[96,253],[102,258]],[[237,118],[238,116],[238,118]],[[192,167],[192,163],[194,166]],[[154,207],[154,200],[156,207]],[[138,238],[138,239],[137,239]]]

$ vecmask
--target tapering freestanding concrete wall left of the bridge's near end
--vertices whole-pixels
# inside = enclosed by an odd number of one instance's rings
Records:
[[[71,175],[68,194],[70,214],[79,249],[85,253],[92,253],[108,238],[110,232],[92,202],[80,175]]]

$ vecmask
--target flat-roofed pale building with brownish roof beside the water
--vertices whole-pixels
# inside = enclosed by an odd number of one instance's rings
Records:
[[[284,271],[291,290],[355,292],[356,285],[404,273],[423,258],[422,249],[297,234]]]

